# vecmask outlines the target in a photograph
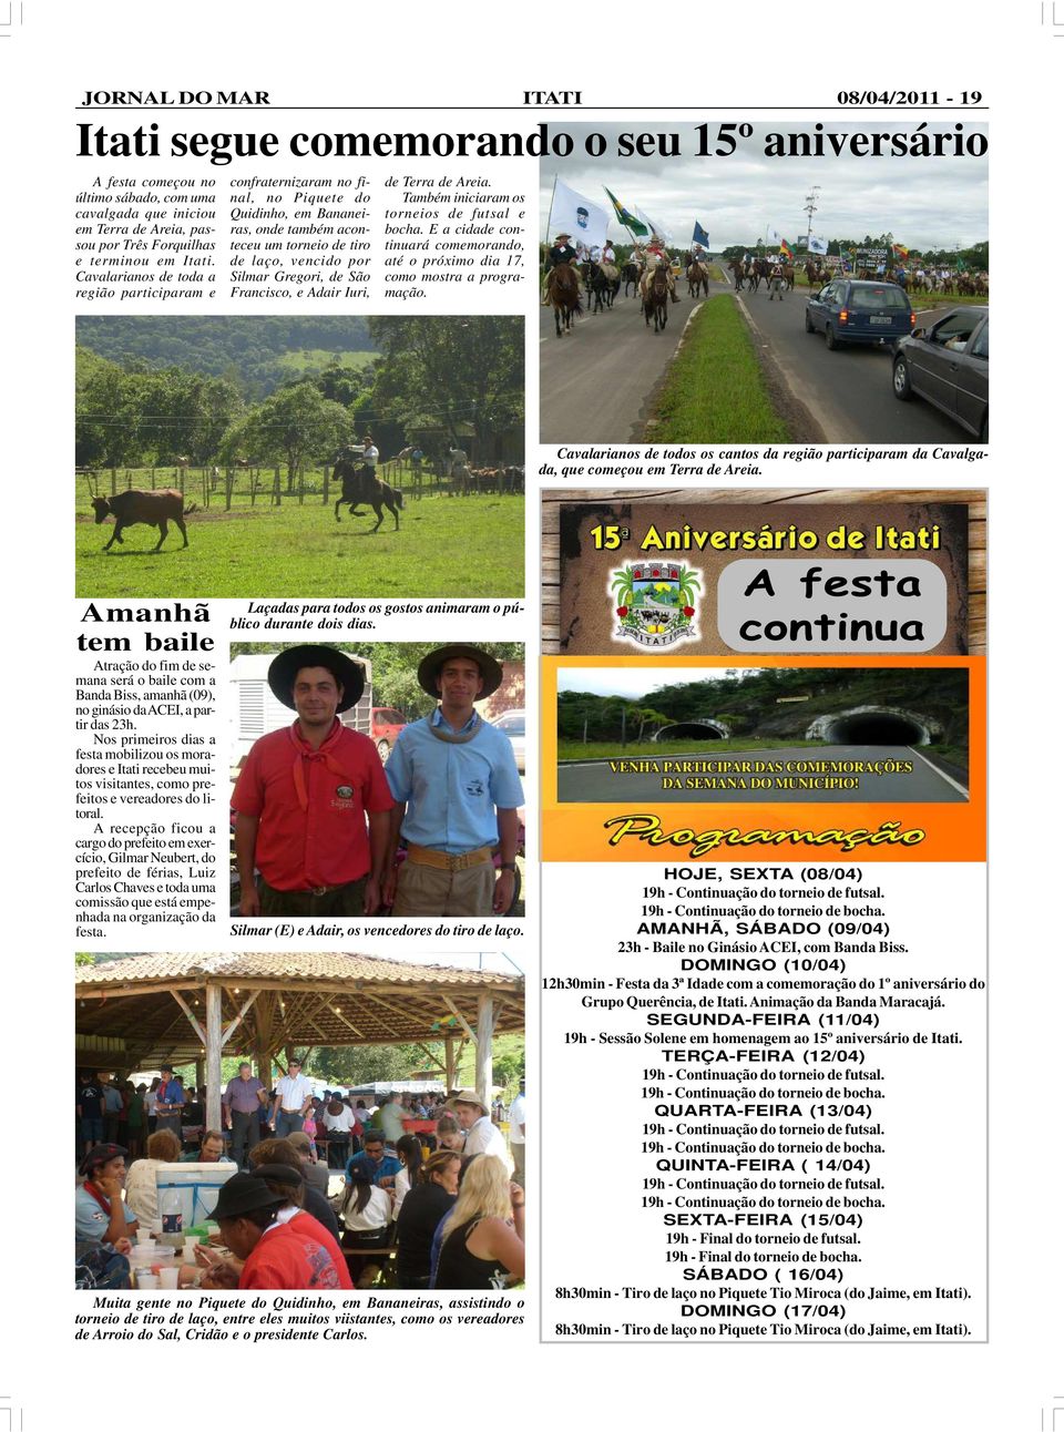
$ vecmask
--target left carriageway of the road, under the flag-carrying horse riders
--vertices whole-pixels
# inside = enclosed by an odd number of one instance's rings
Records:
[[[723,289],[720,289],[723,292]],[[540,308],[540,441],[642,442],[646,404],[696,308],[687,284],[656,334],[637,298],[617,296],[611,309],[584,312],[573,331],[554,337],[554,309]]]

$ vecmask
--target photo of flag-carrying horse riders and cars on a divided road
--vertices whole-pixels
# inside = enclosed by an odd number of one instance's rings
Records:
[[[985,441],[987,126],[720,129],[541,162],[540,441]]]

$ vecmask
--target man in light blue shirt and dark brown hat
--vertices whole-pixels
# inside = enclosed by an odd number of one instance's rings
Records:
[[[498,662],[475,646],[437,647],[418,666],[421,689],[440,705],[402,727],[385,772],[397,802],[385,881],[394,915],[506,914],[513,904],[524,792],[508,739],[473,707],[501,680]],[[400,835],[407,859],[397,874]]]

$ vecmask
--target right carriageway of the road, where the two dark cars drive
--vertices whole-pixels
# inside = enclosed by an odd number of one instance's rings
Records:
[[[928,447],[971,442],[967,432],[929,402],[899,402],[891,388],[891,349],[865,344],[828,352],[823,334],[806,334],[806,288],[769,302],[758,294],[739,295],[788,387],[823,428],[829,442],[922,442]],[[939,309],[934,316],[947,312]],[[918,326],[934,322],[921,314]]]

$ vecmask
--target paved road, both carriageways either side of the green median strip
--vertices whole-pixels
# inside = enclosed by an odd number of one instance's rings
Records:
[[[710,284],[712,294],[730,292]],[[647,404],[676,352],[683,325],[697,306],[687,284],[669,308],[669,326],[647,331],[637,298],[613,311],[584,314],[571,334],[554,337],[553,309],[540,308],[540,441],[642,442]],[[964,444],[969,438],[927,402],[899,402],[891,390],[891,354],[858,345],[828,352],[822,334],[805,332],[808,289],[769,302],[765,289],[740,299],[760,342],[788,387],[829,442]],[[921,315],[919,322],[929,322]],[[736,434],[735,441],[742,441]]]

